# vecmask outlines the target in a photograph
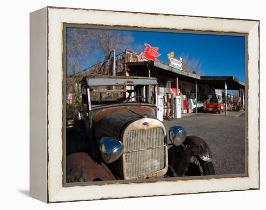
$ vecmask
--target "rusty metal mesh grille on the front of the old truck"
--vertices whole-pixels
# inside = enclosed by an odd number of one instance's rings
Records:
[[[127,178],[137,178],[165,167],[163,129],[132,130],[126,134],[125,170]]]

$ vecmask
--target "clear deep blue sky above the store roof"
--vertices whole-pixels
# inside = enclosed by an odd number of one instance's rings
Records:
[[[175,56],[183,53],[189,55],[189,59],[199,60],[201,72],[206,76],[236,76],[245,82],[245,37],[230,35],[209,35],[177,32],[155,32],[127,30],[133,37],[131,45],[143,46],[144,43],[159,47],[161,56],[158,60],[168,62],[167,53],[174,51]],[[134,50],[134,49],[133,49]],[[83,61],[80,70],[88,68],[99,61],[103,61],[103,55],[99,52],[89,52],[98,58],[91,62]],[[120,52],[117,52],[120,53]],[[140,53],[140,52],[139,52]]]

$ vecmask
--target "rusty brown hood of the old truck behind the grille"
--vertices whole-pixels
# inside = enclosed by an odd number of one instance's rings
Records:
[[[100,141],[102,137],[109,136],[119,140],[125,124],[145,117],[156,119],[154,109],[147,106],[119,106],[103,109],[92,117],[96,138]]]

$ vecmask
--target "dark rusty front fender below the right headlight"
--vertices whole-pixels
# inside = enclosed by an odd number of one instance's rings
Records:
[[[178,177],[184,176],[192,156],[197,155],[206,162],[212,162],[212,154],[205,140],[190,135],[187,136],[182,146],[173,146],[168,150],[168,161]]]

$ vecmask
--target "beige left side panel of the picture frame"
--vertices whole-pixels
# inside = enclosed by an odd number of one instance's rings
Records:
[[[30,13],[30,196],[47,202],[47,8]]]

